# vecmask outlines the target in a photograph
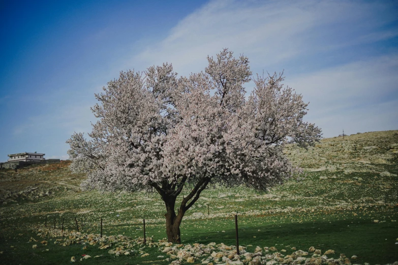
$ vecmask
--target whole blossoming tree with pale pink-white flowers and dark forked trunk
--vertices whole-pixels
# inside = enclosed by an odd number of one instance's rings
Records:
[[[110,81],[91,108],[98,121],[90,139],[75,133],[67,141],[71,170],[87,173],[82,187],[158,192],[168,241],[180,243],[181,220],[206,187],[266,190],[299,171],[282,148],[288,139],[319,141],[321,130],[302,120],[308,104],[281,75],[252,78],[248,58],[232,55],[208,57],[205,72],[189,77],[177,78],[166,63]]]

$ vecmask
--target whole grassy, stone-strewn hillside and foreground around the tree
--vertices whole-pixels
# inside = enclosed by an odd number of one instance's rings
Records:
[[[169,264],[173,260],[177,264],[179,257],[183,263],[253,265],[261,260],[268,265],[398,260],[398,131],[323,139],[309,150],[289,145],[284,152],[304,169],[303,180],[291,180],[267,193],[243,187],[205,190],[184,217],[183,245],[170,246],[174,249],[165,253],[161,252],[166,248],[162,241],[165,209],[156,194],[82,192],[79,184],[84,175],[71,174],[68,161],[32,165],[18,172],[2,170],[0,263],[69,263],[72,256],[77,263],[93,264]],[[239,243],[246,256],[233,257],[229,252],[236,250],[225,246],[235,244],[234,214],[238,214]],[[76,234],[75,217],[81,235]],[[101,217],[103,239],[98,235]],[[146,247],[139,238],[143,218],[152,242]],[[116,249],[120,246],[124,249]],[[258,257],[250,254],[259,252],[257,247],[262,250]],[[310,247],[321,254],[291,254],[309,252]],[[329,249],[334,253],[321,257]],[[224,257],[211,259],[213,250]],[[149,255],[141,257],[145,253]],[[266,256],[270,254],[272,258]],[[82,255],[91,258],[80,261]]]

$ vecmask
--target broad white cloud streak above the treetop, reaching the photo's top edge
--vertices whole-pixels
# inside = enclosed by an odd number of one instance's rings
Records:
[[[147,46],[127,62],[147,67],[172,62],[181,75],[201,71],[206,56],[228,47],[244,53],[252,67],[396,36],[379,27],[390,18],[375,16],[388,7],[377,3],[313,0],[286,2],[213,1],[182,19],[164,40]],[[373,15],[372,15],[373,14]],[[266,64],[264,64],[266,63]]]

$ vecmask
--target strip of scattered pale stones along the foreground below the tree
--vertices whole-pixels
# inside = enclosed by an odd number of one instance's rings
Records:
[[[37,237],[41,239],[37,240],[31,237],[29,242],[32,244],[32,248],[37,248],[38,244],[43,247],[51,243],[63,245],[64,247],[80,244],[83,250],[87,248],[86,245],[90,245],[98,246],[100,250],[107,250],[110,255],[135,255],[140,257],[150,255],[145,251],[147,248],[157,248],[160,253],[156,256],[156,260],[152,260],[152,262],[165,261],[170,262],[172,265],[179,265],[185,262],[207,265],[349,265],[355,262],[357,258],[355,255],[346,257],[344,253],[340,253],[339,258],[328,257],[327,255],[335,254],[335,251],[332,249],[322,251],[315,247],[310,247],[307,251],[303,251],[300,249],[297,250],[294,246],[286,246],[280,250],[275,246],[263,248],[257,246],[253,252],[249,252],[246,247],[239,246],[239,254],[237,254],[236,246],[227,246],[223,243],[216,244],[215,242],[207,245],[199,243],[184,245],[173,244],[167,242],[165,239],[154,242],[152,238],[147,238],[146,244],[144,244],[143,238],[133,239],[124,235],[101,237],[98,234],[84,234],[76,231],[69,232],[67,230],[61,231],[51,228],[36,229],[36,233],[38,233]],[[50,238],[50,242],[42,240],[48,238]],[[80,260],[72,256],[71,262],[83,261],[88,258],[99,258],[101,256],[91,257],[90,255],[82,255]],[[367,264],[364,263],[364,265]],[[398,265],[398,261],[392,265]]]

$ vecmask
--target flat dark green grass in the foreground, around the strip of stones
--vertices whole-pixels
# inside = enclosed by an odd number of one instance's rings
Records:
[[[396,209],[384,209],[379,213],[388,214],[395,219],[398,217]],[[256,246],[275,246],[279,250],[288,250],[288,253],[291,251],[291,247],[308,250],[309,247],[314,246],[317,249],[322,249],[322,252],[328,249],[335,250],[336,254],[328,255],[329,257],[338,258],[340,253],[345,253],[348,256],[357,255],[356,263],[392,263],[398,257],[398,248],[394,245],[396,231],[398,231],[397,223],[391,221],[372,223],[367,219],[360,218],[360,215],[361,212],[354,216],[352,211],[348,211],[344,213],[346,217],[344,220],[338,218],[339,213],[305,214],[302,216],[302,220],[304,220],[302,223],[289,223],[287,220],[289,218],[286,215],[255,218],[239,216],[239,243],[243,246],[252,245],[248,247],[249,251],[253,251]],[[283,222],[281,222],[281,218]],[[123,233],[131,235],[133,234],[132,230],[136,231],[136,236],[137,234],[142,235],[140,224],[112,225],[106,228],[105,230],[112,230],[114,235]],[[108,254],[107,250],[99,250],[98,246],[88,245],[86,250],[83,250],[82,245],[78,244],[63,247],[58,244],[54,245],[53,239],[51,241],[47,239],[48,246],[43,246],[39,242],[28,243],[30,237],[39,239],[36,235],[21,230],[23,235],[16,236],[19,234],[18,232],[18,230],[8,231],[2,235],[4,236],[2,249],[8,248],[2,254],[4,263],[16,264],[29,260],[34,264],[62,264],[67,263],[71,256],[81,257],[82,254],[88,254],[91,257],[102,256],[84,260],[84,263],[87,264],[107,262],[136,264],[142,261],[160,260],[156,257],[162,255],[156,248],[146,248],[145,251],[150,254],[148,257],[141,258],[137,254],[115,257]],[[93,229],[90,229],[89,232],[93,232]],[[154,236],[155,240],[161,239],[165,236],[164,224],[149,224],[146,226],[146,233],[147,236]],[[104,231],[104,234],[109,235],[109,232]],[[14,237],[11,238],[11,235]],[[229,217],[188,220],[181,225],[181,236],[183,244],[223,242],[226,245],[234,245],[234,219]],[[38,248],[32,249],[33,244],[38,244]],[[5,262],[6,260],[7,262]],[[158,262],[158,264],[167,264],[167,262]]]

